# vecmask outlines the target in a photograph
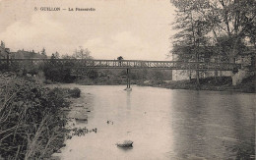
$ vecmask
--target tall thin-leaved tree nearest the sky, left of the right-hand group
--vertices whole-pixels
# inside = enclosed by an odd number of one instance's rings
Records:
[[[204,47],[208,44],[207,34],[211,24],[198,14],[197,10],[206,8],[207,1],[171,0],[177,8],[174,29],[179,30],[174,35],[172,54],[178,60],[199,62],[204,54]],[[199,71],[196,71],[199,84]]]

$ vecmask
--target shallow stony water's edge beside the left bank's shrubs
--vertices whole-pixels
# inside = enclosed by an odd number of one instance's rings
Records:
[[[97,128],[96,125],[91,126],[88,125],[92,116],[94,115],[94,104],[92,104],[93,95],[90,92],[86,92],[83,89],[86,86],[78,85],[75,83],[63,83],[63,84],[50,84],[49,87],[61,87],[63,89],[70,88],[80,88],[81,96],[79,98],[71,98],[71,105],[66,110],[66,117],[68,123],[65,126],[65,129],[69,131],[66,135],[65,147],[62,147],[58,152],[52,154],[52,160],[60,160],[60,159],[76,159],[77,156],[71,156],[67,158],[70,154],[74,154],[76,152],[75,149],[69,148],[70,142],[74,141],[74,139],[78,138],[86,138],[90,136],[90,134],[96,134]],[[92,138],[92,140],[96,140],[96,138]],[[76,142],[76,144],[80,144],[81,141]],[[85,142],[87,145],[87,143]],[[90,147],[90,146],[89,146]],[[83,152],[81,152],[83,153]],[[79,153],[79,154],[81,154]]]

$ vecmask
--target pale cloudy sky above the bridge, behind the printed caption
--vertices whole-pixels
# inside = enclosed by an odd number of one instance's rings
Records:
[[[82,46],[95,59],[167,60],[174,10],[169,0],[0,0],[0,40],[11,51],[72,55]]]

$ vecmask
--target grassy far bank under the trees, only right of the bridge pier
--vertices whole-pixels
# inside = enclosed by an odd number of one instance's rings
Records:
[[[153,81],[140,81],[138,85],[146,85],[146,86],[156,86],[156,87],[164,87],[169,89],[191,89],[191,90],[217,90],[217,91],[239,91],[239,92],[247,92],[247,93],[256,93],[256,78],[250,77],[236,86],[232,85],[232,80],[230,77],[223,78],[207,78],[201,79],[200,85],[196,84],[196,80],[177,80],[177,81],[168,81],[165,82],[163,80],[153,80]]]

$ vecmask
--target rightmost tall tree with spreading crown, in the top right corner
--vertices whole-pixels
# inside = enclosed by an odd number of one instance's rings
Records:
[[[247,36],[255,45],[256,33],[256,1],[255,0],[207,0],[208,11],[197,12],[212,24],[216,43],[222,44],[220,38],[229,42],[227,59],[234,58],[241,52],[240,46]],[[220,53],[221,54],[221,53]]]

